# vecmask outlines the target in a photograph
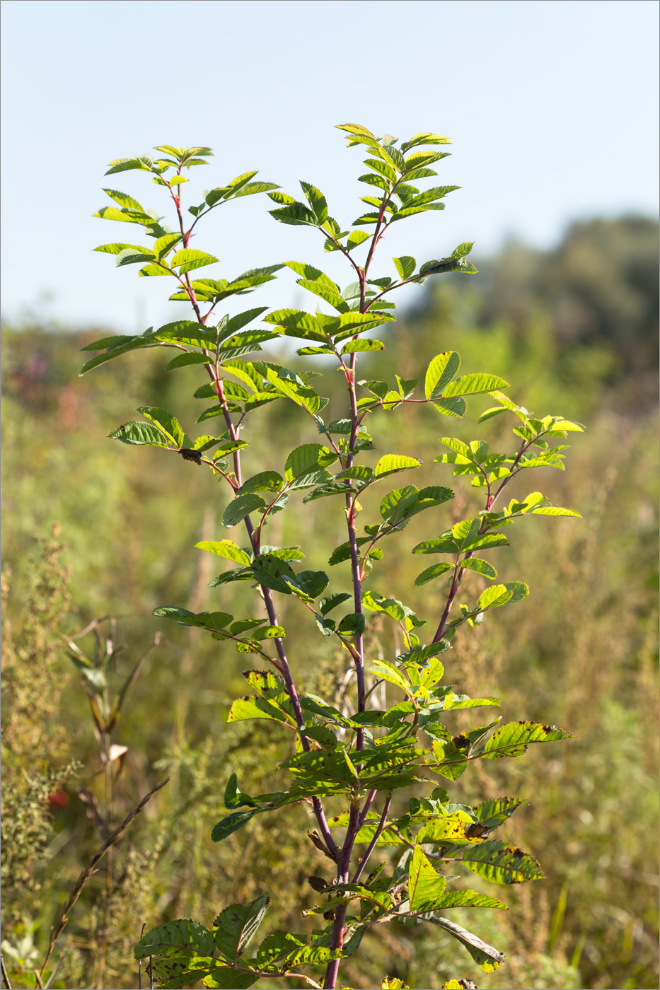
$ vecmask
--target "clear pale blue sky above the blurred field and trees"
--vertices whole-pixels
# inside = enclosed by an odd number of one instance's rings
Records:
[[[298,178],[320,186],[351,222],[369,190],[333,125],[448,135],[439,181],[462,189],[444,213],[396,225],[379,274],[393,254],[470,240],[484,255],[511,236],[551,247],[576,218],[655,215],[657,37],[655,0],[3,0],[3,315],[123,333],[179,315],[163,279],[91,253],[140,243],[137,228],[91,217],[110,204],[102,186],[165,213],[148,176],[103,178],[111,159],[160,144],[215,150],[190,170],[188,203],[259,168],[294,195]],[[195,247],[221,260],[199,274],[292,257],[351,280],[269,205],[251,197],[200,224]],[[298,293],[286,271],[227,308]]]

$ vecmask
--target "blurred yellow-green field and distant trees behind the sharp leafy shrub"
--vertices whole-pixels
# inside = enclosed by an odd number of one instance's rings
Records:
[[[365,937],[345,978],[375,986],[385,960],[387,973],[410,986],[439,986],[458,972],[493,990],[655,987],[658,225],[643,217],[576,223],[553,251],[509,244],[478,266],[480,276],[443,276],[420,291],[384,338],[374,375],[391,377],[396,364],[418,376],[432,354],[453,348],[464,371],[503,375],[530,410],[586,423],[566,474],[538,482],[584,520],[539,526],[531,546],[512,545],[502,579],[531,588],[515,625],[495,615],[476,638],[457,638],[447,664],[462,689],[501,698],[505,718],[555,722],[576,739],[524,761],[496,761],[474,793],[455,785],[468,803],[506,793],[531,799],[507,838],[537,855],[548,878],[506,891],[510,915],[480,917],[478,926],[486,940],[505,942],[508,965],[487,976],[435,932],[390,928]],[[262,296],[267,303],[268,290]],[[103,620],[75,643],[92,658],[101,644],[116,691],[154,641],[154,607],[218,607],[207,589],[210,555],[193,545],[223,535],[224,496],[218,505],[217,487],[194,464],[105,440],[146,401],[191,427],[200,411],[190,397],[194,373],[165,376],[162,356],[148,351],[80,379],[77,350],[102,331],[26,325],[2,334],[2,945],[12,985],[36,985],[50,928],[104,830],[166,774],[169,784],[116,846],[111,868],[85,886],[49,964],[63,958],[52,985],[134,987],[132,945],[143,924],[210,921],[263,890],[278,900],[273,929],[303,931],[299,912],[313,897],[305,878],[323,863],[298,811],[282,809],[268,828],[258,819],[220,845],[209,838],[229,774],[237,771],[248,792],[273,790],[263,766],[290,744],[270,726],[226,725],[232,699],[245,692],[241,658],[194,631],[167,629],[113,730],[112,743],[127,751],[108,768],[61,640]],[[294,360],[287,354],[284,362]],[[338,378],[328,375],[321,389],[335,415]],[[379,415],[384,442],[424,460],[417,483],[447,484],[432,463],[437,438],[455,429],[473,439],[479,412],[472,403],[468,423],[455,427],[413,407],[423,450],[401,446],[400,423]],[[291,446],[308,441],[292,405],[262,413],[246,438],[252,445],[268,450],[275,431]],[[501,442],[503,430],[498,419],[479,436]],[[469,498],[457,493],[457,518]],[[319,555],[310,554],[309,567],[323,566],[324,549],[344,539],[323,503],[315,506]],[[273,543],[297,543],[289,516],[275,522]],[[411,524],[405,545],[427,536]],[[403,545],[393,570],[403,593],[415,572]],[[226,587],[230,599],[243,593],[240,584]],[[431,596],[422,589],[420,611],[432,607]],[[241,608],[223,598],[225,606]],[[375,655],[391,648],[378,616],[369,633]],[[343,657],[315,631],[293,640],[308,688],[327,696],[344,677]],[[274,754],[256,759],[248,735]],[[468,924],[460,912],[453,917]]]

